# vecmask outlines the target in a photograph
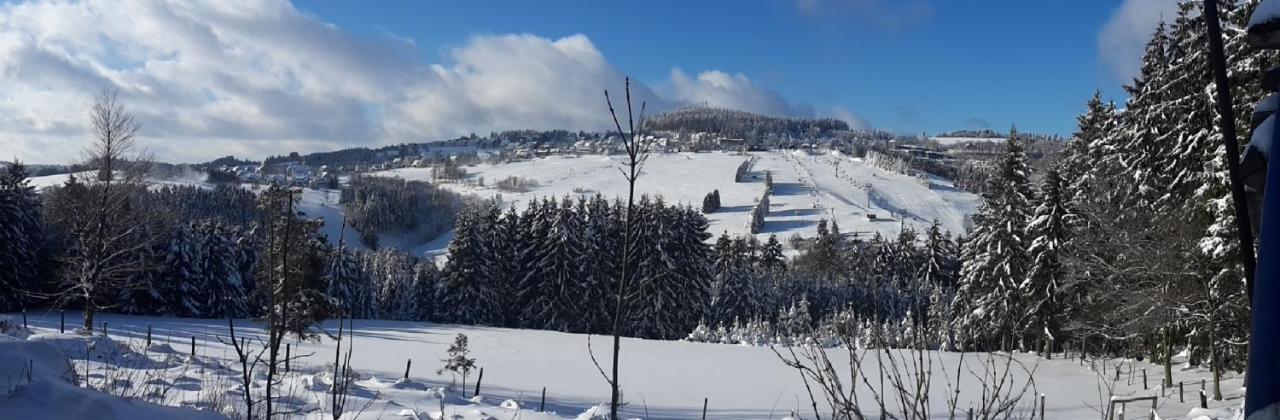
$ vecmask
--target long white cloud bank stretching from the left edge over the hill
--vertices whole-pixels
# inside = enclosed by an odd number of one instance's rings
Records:
[[[511,128],[611,125],[623,72],[582,35],[477,36],[422,63],[412,40],[360,37],[283,0],[0,5],[0,158],[61,163],[88,143],[92,95],[119,90],[164,160],[261,158]],[[742,74],[672,72],[681,102],[812,115]],[[618,99],[621,100],[621,99]]]

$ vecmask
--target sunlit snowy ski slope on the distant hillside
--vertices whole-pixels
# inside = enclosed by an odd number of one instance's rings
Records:
[[[733,182],[739,164],[754,158],[753,179]],[[618,169],[622,156],[548,156],[508,164],[468,166],[468,182],[445,183],[462,193],[499,196],[522,209],[530,198],[594,195],[623,197],[626,181]],[[701,207],[703,197],[719,190],[721,210],[709,214],[710,232],[746,234],[751,207],[764,193],[764,173],[773,174],[769,216],[759,234],[812,237],[819,219],[835,219],[841,232],[881,233],[893,237],[902,227],[923,230],[933,220],[955,233],[964,232],[979,198],[956,190],[945,179],[919,179],[883,170],[838,152],[768,151],[750,155],[733,152],[653,154],[645,161],[637,192],[662,195],[668,202]],[[431,181],[428,168],[404,168],[375,173],[403,179]],[[484,177],[485,186],[479,186]],[[507,177],[538,183],[525,192],[503,192],[493,184]],[[876,216],[874,220],[868,215]],[[447,242],[436,241],[436,245]],[[428,248],[420,251],[429,252]]]

